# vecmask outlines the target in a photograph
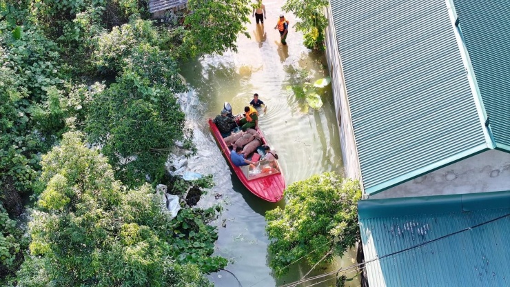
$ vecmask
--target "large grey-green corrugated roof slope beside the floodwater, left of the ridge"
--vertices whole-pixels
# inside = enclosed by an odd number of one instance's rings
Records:
[[[365,192],[487,149],[444,0],[331,0]]]

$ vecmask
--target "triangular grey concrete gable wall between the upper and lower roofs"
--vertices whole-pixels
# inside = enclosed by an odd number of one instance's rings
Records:
[[[510,190],[510,153],[488,150],[389,188],[370,199]]]

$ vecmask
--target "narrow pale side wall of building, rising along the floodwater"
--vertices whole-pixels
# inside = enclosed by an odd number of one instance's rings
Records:
[[[329,19],[329,26],[326,29],[326,56],[329,75],[332,77],[337,123],[340,126],[340,145],[342,146],[345,176],[361,180],[358,152],[349,112],[349,101],[343,80],[342,62],[338,52],[338,43],[331,13],[331,7],[328,6],[326,11],[326,17]]]

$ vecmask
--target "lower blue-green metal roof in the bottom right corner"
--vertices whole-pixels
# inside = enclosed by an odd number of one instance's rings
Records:
[[[368,199],[358,210],[365,262],[375,259],[369,286],[510,286],[510,192]]]

